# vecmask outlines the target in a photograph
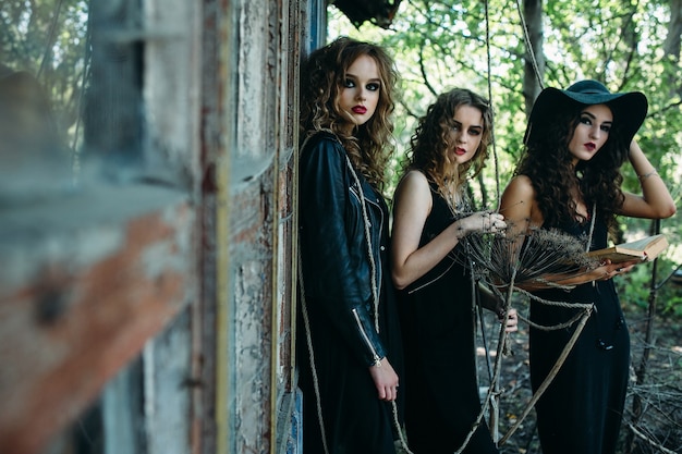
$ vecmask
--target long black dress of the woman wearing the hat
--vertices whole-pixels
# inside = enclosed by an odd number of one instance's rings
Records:
[[[589,234],[589,222],[560,225],[571,235]],[[606,247],[607,228],[595,223],[592,249]],[[550,290],[538,296],[567,303],[594,303],[589,317],[559,373],[536,404],[544,454],[612,454],[628,390],[630,335],[612,280],[579,285],[571,292]],[[556,326],[575,309],[532,302],[531,319]],[[531,329],[531,380],[537,390],[575,330]]]

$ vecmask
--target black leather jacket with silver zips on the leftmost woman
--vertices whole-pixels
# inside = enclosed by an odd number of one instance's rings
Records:
[[[365,221],[345,150],[333,134],[317,133],[305,144],[299,169],[300,247],[310,323],[331,323],[330,335],[340,333],[360,360],[373,365],[386,349],[375,329]],[[388,210],[381,195],[356,174],[366,200],[380,297]]]

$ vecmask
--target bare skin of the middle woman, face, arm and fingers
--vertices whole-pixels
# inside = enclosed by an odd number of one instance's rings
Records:
[[[460,164],[471,160],[478,149],[483,133],[480,110],[471,106],[456,109],[450,134],[451,149],[447,150],[451,168],[448,174],[456,174]],[[426,219],[433,209],[428,180],[417,170],[407,172],[394,194],[392,230],[392,278],[398,289],[404,289],[438,265],[463,238],[472,232],[502,232],[507,224],[499,213],[480,211],[462,218],[426,245],[419,247],[419,238]],[[490,297],[489,293],[484,296]],[[506,319],[508,332],[516,331],[516,311],[510,309]]]

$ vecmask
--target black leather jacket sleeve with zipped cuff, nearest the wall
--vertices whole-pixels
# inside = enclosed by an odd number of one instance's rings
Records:
[[[386,356],[351,259],[346,233],[349,170],[345,150],[333,138],[309,143],[300,160],[300,235],[303,278],[308,299],[321,307],[360,360],[369,365]],[[372,298],[372,296],[369,296]]]

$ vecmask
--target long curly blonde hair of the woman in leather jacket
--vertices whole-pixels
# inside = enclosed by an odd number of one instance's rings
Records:
[[[381,79],[379,101],[372,119],[344,132],[349,119],[339,107],[339,95],[348,69],[358,57],[369,56]],[[386,169],[393,152],[393,91],[398,73],[391,57],[379,46],[341,37],[317,49],[301,66],[301,140],[319,132],[331,131],[345,148],[353,165],[377,187],[383,189]]]

